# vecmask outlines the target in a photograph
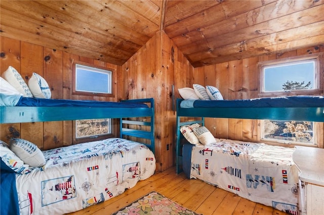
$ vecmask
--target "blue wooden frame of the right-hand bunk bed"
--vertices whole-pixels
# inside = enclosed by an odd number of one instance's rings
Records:
[[[205,117],[208,118],[234,118],[256,120],[296,120],[324,122],[324,106],[309,108],[181,108],[184,100],[177,98],[177,143],[176,143],[176,171],[182,172],[182,143],[184,139],[180,127],[198,123],[205,125]],[[195,118],[194,121],[181,121],[184,117]]]

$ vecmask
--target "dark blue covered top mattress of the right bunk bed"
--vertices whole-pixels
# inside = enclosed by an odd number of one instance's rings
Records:
[[[183,100],[181,108],[317,108],[324,96],[285,96],[235,100]]]

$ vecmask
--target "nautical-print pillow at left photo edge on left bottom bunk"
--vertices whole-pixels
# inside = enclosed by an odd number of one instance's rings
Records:
[[[16,173],[22,174],[24,170],[28,170],[29,166],[8,147],[7,143],[0,140],[0,156],[2,161]]]

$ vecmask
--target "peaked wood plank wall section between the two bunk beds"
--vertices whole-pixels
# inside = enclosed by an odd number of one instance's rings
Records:
[[[176,112],[178,88],[192,86],[193,67],[165,32],[159,31],[122,66],[124,95],[155,100],[155,157],[157,171],[175,164]]]

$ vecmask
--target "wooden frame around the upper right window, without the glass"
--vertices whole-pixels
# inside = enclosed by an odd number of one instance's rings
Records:
[[[297,57],[290,57],[285,59],[276,59],[271,61],[263,61],[258,63],[258,74],[259,74],[259,97],[275,97],[275,96],[292,96],[292,95],[315,95],[323,93],[322,88],[322,74],[321,74],[321,66],[320,66],[320,58],[322,57],[321,53],[309,54],[304,56],[297,56]],[[264,88],[264,72],[263,68],[265,66],[271,66],[276,64],[285,64],[291,62],[299,62],[299,61],[306,61],[306,60],[315,60],[315,81],[317,86],[316,89],[302,89],[302,90],[287,90],[287,91],[263,91]]]

